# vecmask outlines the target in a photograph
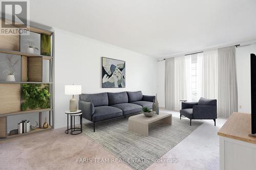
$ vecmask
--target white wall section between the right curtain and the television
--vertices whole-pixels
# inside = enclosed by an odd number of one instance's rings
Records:
[[[250,54],[256,54],[256,44],[236,48],[238,79],[238,111],[251,113]]]

